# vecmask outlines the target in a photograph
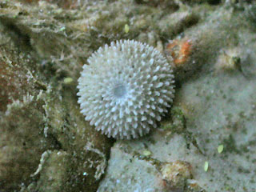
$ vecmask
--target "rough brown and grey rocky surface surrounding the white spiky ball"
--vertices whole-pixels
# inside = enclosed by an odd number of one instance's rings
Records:
[[[231,0],[0,1],[0,190],[255,191],[255,10]],[[76,86],[90,54],[119,39],[173,61],[177,93],[157,130],[111,148],[80,114]]]

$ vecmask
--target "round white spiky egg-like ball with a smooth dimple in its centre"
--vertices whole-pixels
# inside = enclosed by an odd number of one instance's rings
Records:
[[[111,42],[88,58],[78,103],[91,126],[113,138],[138,138],[156,127],[174,98],[174,75],[153,46]]]

